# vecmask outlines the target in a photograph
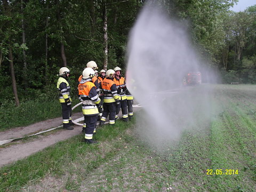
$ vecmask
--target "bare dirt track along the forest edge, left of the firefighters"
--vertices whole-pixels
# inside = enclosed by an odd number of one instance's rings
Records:
[[[139,108],[134,108],[134,111]],[[119,114],[119,116],[122,116]],[[73,119],[83,117],[82,113],[73,114]],[[25,127],[17,127],[0,134],[0,141],[19,138],[32,133],[37,133],[62,124],[62,118],[53,118],[46,121],[38,122]],[[46,147],[53,145],[59,141],[66,140],[75,135],[81,134],[82,126],[74,125],[74,130],[58,129],[57,131],[48,132],[44,135],[32,137],[29,141],[15,141],[11,144],[0,146],[0,167],[18,161],[31,154],[34,154]]]

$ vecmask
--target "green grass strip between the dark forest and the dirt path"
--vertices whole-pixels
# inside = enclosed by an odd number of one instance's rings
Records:
[[[73,106],[77,103],[78,100],[74,100]],[[77,108],[74,112],[76,110]],[[29,100],[21,102],[19,107],[16,107],[13,102],[5,102],[0,107],[0,131],[60,116],[61,105],[58,100],[52,100],[51,102]]]

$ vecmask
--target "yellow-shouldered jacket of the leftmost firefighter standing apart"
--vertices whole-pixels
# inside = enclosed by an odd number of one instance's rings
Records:
[[[60,77],[57,82],[57,89],[59,90],[59,101],[65,103],[65,99],[70,98],[70,86],[66,78]]]

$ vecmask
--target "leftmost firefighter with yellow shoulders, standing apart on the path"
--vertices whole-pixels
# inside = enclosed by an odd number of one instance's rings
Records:
[[[68,77],[70,70],[67,67],[60,68],[59,79],[57,82],[57,88],[60,92],[59,100],[62,108],[62,119],[63,128],[67,130],[73,130],[72,123],[72,109],[71,109],[71,98],[70,98],[70,86],[68,83]]]

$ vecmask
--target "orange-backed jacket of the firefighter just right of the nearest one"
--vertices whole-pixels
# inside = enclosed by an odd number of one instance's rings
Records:
[[[100,89],[103,92],[103,101],[105,103],[111,103],[118,100],[119,97],[117,95],[116,84],[110,78],[107,77],[100,82]]]

